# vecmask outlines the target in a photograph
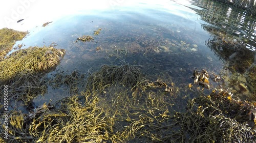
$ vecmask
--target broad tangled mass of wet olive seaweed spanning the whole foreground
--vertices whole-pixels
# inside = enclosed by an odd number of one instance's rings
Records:
[[[73,73],[76,75],[76,72]],[[203,79],[203,78],[202,78]],[[25,114],[12,111],[7,142],[253,142],[255,103],[218,88],[173,108],[179,89],[138,66],[104,65],[86,89]],[[194,84],[197,88],[203,86]],[[193,92],[193,90],[191,90]],[[2,126],[1,126],[2,127]]]

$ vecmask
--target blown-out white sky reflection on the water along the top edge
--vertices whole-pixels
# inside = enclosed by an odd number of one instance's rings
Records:
[[[185,3],[186,2],[186,3]],[[1,13],[2,17],[0,28],[8,27],[14,30],[27,31],[32,30],[36,26],[48,21],[56,21],[70,15],[99,15],[100,12],[111,11],[119,13],[123,11],[136,11],[136,13],[144,13],[144,8],[155,9],[179,15],[186,19],[195,18],[193,12],[188,8],[180,9],[178,4],[170,1],[125,1],[125,0],[109,0],[109,1],[2,1]],[[183,1],[187,4],[187,1]],[[188,11],[188,12],[187,12]],[[107,16],[107,15],[105,15]],[[151,15],[148,15],[151,16]],[[109,18],[114,18],[112,15]],[[24,19],[17,23],[18,20]]]

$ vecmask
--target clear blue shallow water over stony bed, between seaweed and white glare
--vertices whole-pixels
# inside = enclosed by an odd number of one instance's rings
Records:
[[[56,48],[66,49],[63,60],[48,77],[60,71],[71,74],[77,70],[87,74],[103,64],[130,64],[139,65],[148,76],[168,74],[177,87],[181,87],[193,83],[191,76],[195,69],[228,76],[236,74],[226,68],[230,63],[227,55],[211,49],[206,43],[214,39],[217,31],[233,40],[240,40],[254,55],[255,23],[256,19],[246,15],[245,11],[206,0],[136,1],[131,5],[117,5],[114,9],[72,14],[53,20],[46,27],[33,28],[16,45],[23,43],[26,46],[22,48],[27,48],[55,42]],[[100,34],[93,36],[98,28],[102,29]],[[76,42],[83,35],[92,35],[94,41]],[[97,47],[101,50],[97,51]],[[120,53],[121,58],[116,61],[112,61],[115,58],[106,59],[113,54],[113,49],[127,54]],[[244,73],[239,75],[246,76]],[[67,96],[69,92],[65,88],[54,89],[49,85],[48,93],[38,96],[34,103],[37,106],[50,99],[55,102]]]

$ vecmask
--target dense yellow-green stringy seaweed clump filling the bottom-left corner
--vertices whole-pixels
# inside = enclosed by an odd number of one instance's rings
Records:
[[[13,111],[8,142],[102,142],[112,121],[96,106],[98,100],[83,94],[63,99],[55,108],[43,104],[29,114]]]

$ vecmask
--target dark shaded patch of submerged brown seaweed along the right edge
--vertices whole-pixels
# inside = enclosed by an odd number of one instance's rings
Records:
[[[226,88],[232,88],[233,93],[255,100],[256,56],[253,46],[248,47],[246,39],[236,39],[234,36],[214,27],[206,25],[204,27],[214,34],[213,39],[206,41],[207,46],[227,63],[226,68],[232,73],[231,76],[224,74],[226,77],[230,77],[225,79]],[[253,43],[250,44],[253,45]]]

